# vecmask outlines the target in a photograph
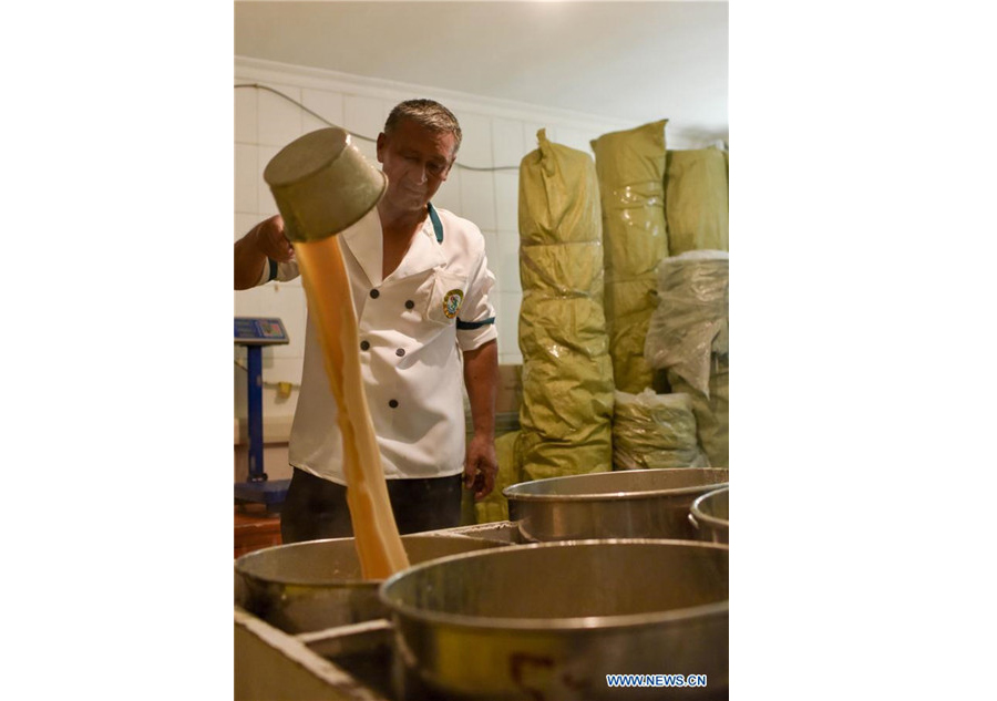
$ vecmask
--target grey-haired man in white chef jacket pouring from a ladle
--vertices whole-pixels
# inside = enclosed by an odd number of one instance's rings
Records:
[[[388,189],[339,234],[360,331],[361,368],[400,533],[460,525],[461,475],[475,498],[494,487],[497,332],[479,228],[430,200],[461,144],[453,114],[431,100],[391,111],[378,136]],[[235,287],[298,275],[284,221],[261,221],[235,245]],[[474,425],[465,451],[461,374]],[[284,543],[352,535],[338,408],[311,319],[288,450]]]

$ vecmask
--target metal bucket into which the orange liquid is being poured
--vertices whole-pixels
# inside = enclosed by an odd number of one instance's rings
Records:
[[[409,564],[503,544],[464,536],[402,536]],[[236,604],[285,632],[300,633],[388,616],[381,580],[363,579],[353,538],[278,545],[235,563]]]

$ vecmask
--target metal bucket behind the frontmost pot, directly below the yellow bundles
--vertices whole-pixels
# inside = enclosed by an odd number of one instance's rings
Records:
[[[502,491],[531,543],[580,538],[698,539],[692,502],[727,486],[728,471],[627,470],[522,482]]]

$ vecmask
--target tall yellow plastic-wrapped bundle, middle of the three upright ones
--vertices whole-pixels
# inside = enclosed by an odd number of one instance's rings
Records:
[[[616,389],[654,384],[644,338],[655,310],[655,269],[668,256],[665,125],[651,122],[592,142],[603,205],[606,326]]]

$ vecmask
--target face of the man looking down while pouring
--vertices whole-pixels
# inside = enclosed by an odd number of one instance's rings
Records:
[[[424,209],[446,181],[456,140],[450,132],[431,132],[402,120],[378,136],[378,162],[388,176],[384,198],[400,209]]]

